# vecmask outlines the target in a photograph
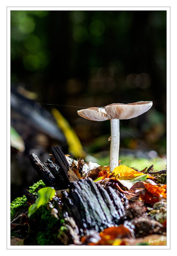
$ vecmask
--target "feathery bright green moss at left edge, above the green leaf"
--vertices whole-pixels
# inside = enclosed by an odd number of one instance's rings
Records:
[[[42,180],[37,181],[36,183],[33,184],[33,186],[29,187],[29,192],[33,193],[34,190],[36,190],[38,187],[45,187],[45,184]],[[37,193],[33,193],[34,196],[37,196]],[[15,212],[20,208],[26,205],[26,196],[22,197],[17,197],[15,200],[11,202],[11,220],[15,214]]]

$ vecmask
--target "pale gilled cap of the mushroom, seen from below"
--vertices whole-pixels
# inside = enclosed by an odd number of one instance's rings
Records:
[[[93,121],[104,121],[110,119],[130,119],[140,116],[148,111],[152,101],[138,101],[135,103],[113,103],[103,108],[92,107],[78,110],[79,116]]]

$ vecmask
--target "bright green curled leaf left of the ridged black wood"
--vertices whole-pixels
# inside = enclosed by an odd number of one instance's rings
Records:
[[[38,198],[36,199],[35,203],[30,205],[28,209],[28,217],[30,218],[36,210],[44,204],[47,204],[52,198],[55,196],[55,188],[46,187],[41,188],[38,190]]]

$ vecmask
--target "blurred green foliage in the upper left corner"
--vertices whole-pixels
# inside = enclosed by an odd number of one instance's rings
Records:
[[[21,59],[23,67],[28,71],[45,68],[49,63],[45,34],[35,33],[38,20],[48,13],[11,11],[11,61]]]

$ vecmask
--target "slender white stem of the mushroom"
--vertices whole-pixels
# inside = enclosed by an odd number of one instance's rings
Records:
[[[110,172],[113,172],[116,166],[119,166],[119,119],[110,119],[111,121],[111,146],[110,146]]]

